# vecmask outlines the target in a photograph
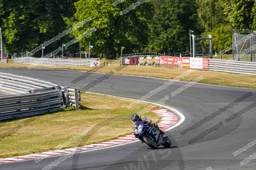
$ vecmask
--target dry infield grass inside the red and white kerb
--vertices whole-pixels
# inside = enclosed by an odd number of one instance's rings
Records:
[[[58,113],[0,122],[1,136],[20,125],[0,141],[0,158],[84,146],[130,134],[132,113],[150,105],[140,102],[127,108],[132,101],[82,93],[82,105],[86,106],[82,110],[67,108]],[[160,120],[160,116],[151,111],[145,116],[154,122]],[[81,133],[84,136],[78,137]]]

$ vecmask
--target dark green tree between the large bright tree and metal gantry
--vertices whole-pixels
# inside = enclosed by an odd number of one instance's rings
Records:
[[[149,22],[148,49],[159,52],[184,51],[189,45],[189,29],[196,29],[195,0],[165,0],[155,5]]]

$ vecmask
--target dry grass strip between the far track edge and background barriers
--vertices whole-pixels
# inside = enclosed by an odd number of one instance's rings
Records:
[[[101,62],[104,62],[102,59]],[[0,64],[0,68],[27,68],[29,64],[14,64],[12,60],[8,64]],[[152,67],[152,66],[133,66],[129,65],[120,71],[116,71],[119,66],[119,60],[114,60],[110,65],[107,65],[97,72],[109,73],[113,71],[114,74],[119,75],[135,75],[135,76],[146,76],[152,78],[165,78],[173,79],[182,74],[182,72],[188,69],[179,68],[165,68],[165,67]],[[90,71],[92,67],[77,67],[77,66],[38,66],[36,68],[47,68],[47,69],[68,69],[68,70],[80,70]],[[213,84],[213,85],[226,85],[233,87],[246,87],[256,88],[256,76],[246,74],[236,74],[218,71],[204,71],[195,70],[189,76],[180,79],[181,81],[192,81],[195,78],[202,76],[203,79],[199,83]]]

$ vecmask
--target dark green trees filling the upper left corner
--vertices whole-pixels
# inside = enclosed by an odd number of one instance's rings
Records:
[[[74,14],[75,0],[1,0],[0,15],[4,46],[9,52],[32,50],[66,29],[63,17]],[[61,39],[46,47],[45,53],[61,46]],[[41,52],[36,55],[40,56]]]

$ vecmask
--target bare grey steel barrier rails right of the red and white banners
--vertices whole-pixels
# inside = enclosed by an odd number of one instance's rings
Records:
[[[256,75],[256,62],[209,59],[209,70]]]

